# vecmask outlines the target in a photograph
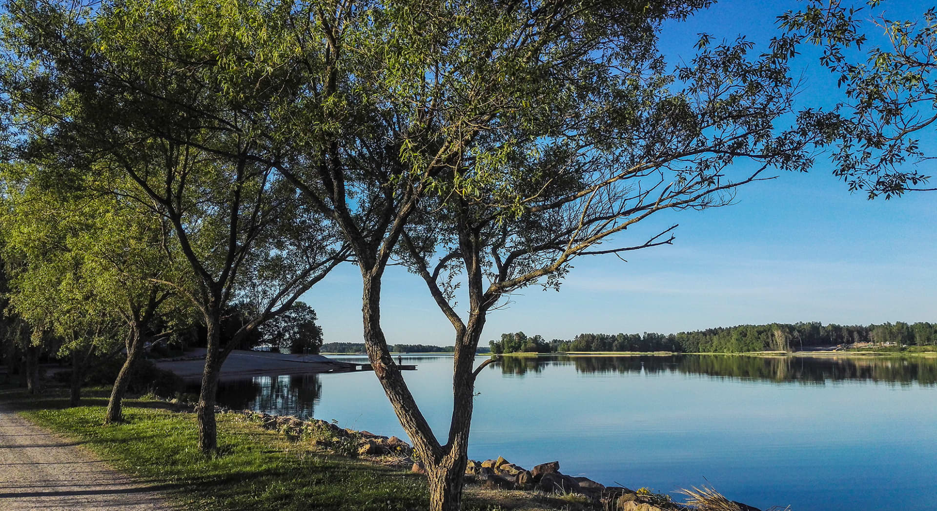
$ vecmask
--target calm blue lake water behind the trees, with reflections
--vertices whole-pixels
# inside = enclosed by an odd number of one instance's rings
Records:
[[[452,358],[403,360],[444,438]],[[662,492],[709,484],[761,508],[937,508],[937,358],[508,357],[477,391],[470,458],[558,459],[563,473]],[[407,438],[372,372],[229,381],[218,397]]]

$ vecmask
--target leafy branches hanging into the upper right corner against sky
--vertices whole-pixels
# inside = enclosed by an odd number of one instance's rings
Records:
[[[851,190],[885,199],[929,186],[929,151],[937,121],[937,11],[894,19],[895,2],[810,0],[781,15],[796,41],[816,45],[820,64],[837,79],[844,98],[811,110],[804,126],[832,146],[833,172]],[[922,143],[921,139],[925,142]]]

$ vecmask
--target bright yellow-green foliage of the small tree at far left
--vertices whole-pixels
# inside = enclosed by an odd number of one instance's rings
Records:
[[[9,307],[35,332],[61,339],[60,355],[110,352],[147,296],[165,294],[156,280],[173,264],[160,245],[162,226],[126,203],[49,188],[35,175],[0,171]]]

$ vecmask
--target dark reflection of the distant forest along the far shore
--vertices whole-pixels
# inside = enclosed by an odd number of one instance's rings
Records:
[[[573,365],[581,373],[672,372],[771,382],[825,383],[858,380],[937,383],[937,359],[888,357],[766,357],[745,355],[502,356],[493,364],[503,374],[539,373],[547,366]]]

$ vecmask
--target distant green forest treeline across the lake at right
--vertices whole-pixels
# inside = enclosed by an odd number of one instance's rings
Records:
[[[547,341],[524,332],[501,334],[491,353],[675,352],[743,353],[796,352],[822,346],[871,342],[883,346],[937,344],[937,324],[883,323],[840,325],[813,323],[742,324],[677,334],[579,334]]]

